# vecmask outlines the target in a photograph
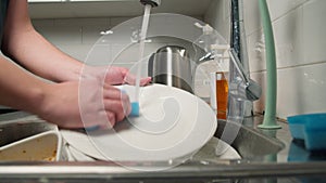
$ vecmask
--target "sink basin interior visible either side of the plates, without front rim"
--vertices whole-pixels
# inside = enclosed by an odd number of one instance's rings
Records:
[[[57,129],[57,126],[23,112],[1,115],[0,146]],[[253,128],[237,122],[227,122],[226,120],[218,120],[218,128],[214,136],[231,145],[242,159],[251,161],[261,160],[265,156],[277,154],[285,147],[276,138],[265,135]],[[212,160],[218,159],[217,156],[213,156],[213,158]]]

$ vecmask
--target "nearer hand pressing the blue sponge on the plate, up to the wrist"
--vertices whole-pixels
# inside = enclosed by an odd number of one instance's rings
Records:
[[[38,115],[62,128],[112,128],[130,113],[126,94],[95,78],[49,84]]]

